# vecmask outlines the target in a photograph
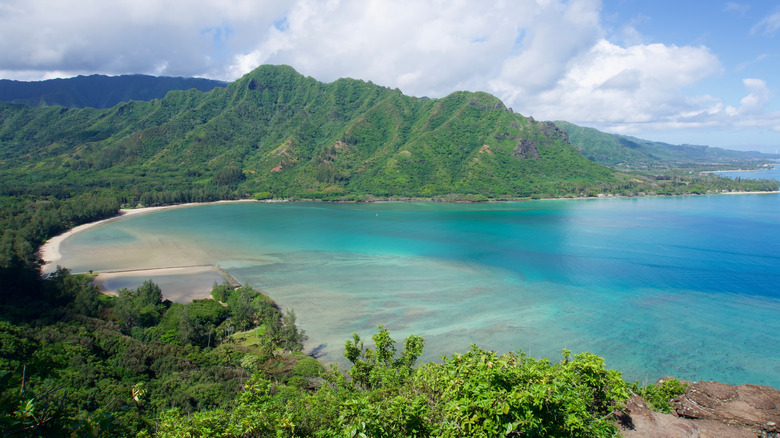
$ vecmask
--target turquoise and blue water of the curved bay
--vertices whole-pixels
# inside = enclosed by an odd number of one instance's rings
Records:
[[[76,271],[221,265],[295,310],[307,349],[353,331],[560,358],[641,382],[780,388],[780,195],[497,204],[235,203],[132,216],[67,239]]]

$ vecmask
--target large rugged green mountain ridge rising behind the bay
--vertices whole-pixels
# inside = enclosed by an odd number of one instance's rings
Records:
[[[488,94],[418,99],[287,66],[104,110],[2,104],[0,118],[0,182],[13,193],[111,188],[138,198],[230,186],[278,197],[537,197],[622,184],[555,125]]]

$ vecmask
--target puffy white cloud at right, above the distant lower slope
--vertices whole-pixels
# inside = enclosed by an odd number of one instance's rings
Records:
[[[520,106],[542,119],[581,123],[646,123],[699,114],[715,104],[685,97],[683,88],[718,72],[720,62],[703,47],[663,44],[620,47],[600,40],[569,63],[556,87]]]

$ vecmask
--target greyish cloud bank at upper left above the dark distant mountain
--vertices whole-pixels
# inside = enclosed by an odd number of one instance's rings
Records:
[[[219,68],[239,34],[261,38],[284,1],[5,0],[0,70],[193,75]],[[264,29],[263,29],[264,30]]]

